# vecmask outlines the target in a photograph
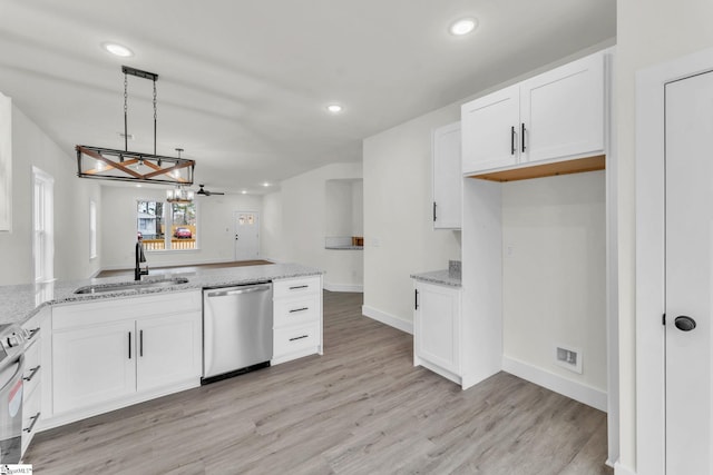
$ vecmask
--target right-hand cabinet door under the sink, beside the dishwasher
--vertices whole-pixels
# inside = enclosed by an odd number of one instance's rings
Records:
[[[137,389],[170,386],[201,377],[201,314],[137,320]]]

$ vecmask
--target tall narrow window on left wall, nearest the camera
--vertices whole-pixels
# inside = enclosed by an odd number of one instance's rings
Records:
[[[32,167],[32,258],[35,281],[55,279],[55,179]]]

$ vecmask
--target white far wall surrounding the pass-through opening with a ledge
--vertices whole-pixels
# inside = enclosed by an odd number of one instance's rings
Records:
[[[363,251],[324,248],[326,182],[361,177],[361,164],[332,164],[282,181],[265,197],[265,255],[324,270],[328,290],[361,290]]]

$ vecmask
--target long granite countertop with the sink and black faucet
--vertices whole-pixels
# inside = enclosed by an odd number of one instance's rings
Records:
[[[39,313],[42,307],[48,305],[188,291],[206,287],[227,287],[264,280],[319,276],[322,274],[322,270],[299,264],[271,264],[264,266],[201,269],[194,273],[170,273],[169,270],[162,273],[157,271],[156,274],[149,274],[141,280],[150,281],[170,277],[187,277],[188,283],[165,287],[134,288],[97,294],[79,295],[75,294],[75,290],[80,287],[91,285],[129,283],[133,281],[131,277],[118,276],[70,281],[56,280],[53,283],[42,285],[27,284],[0,286],[0,324],[22,324]]]

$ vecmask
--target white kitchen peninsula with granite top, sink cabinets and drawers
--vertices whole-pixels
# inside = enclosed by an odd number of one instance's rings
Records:
[[[37,431],[199,386],[207,288],[273,283],[271,364],[321,355],[322,274],[274,264],[0,287],[0,324],[36,338],[23,451]]]

